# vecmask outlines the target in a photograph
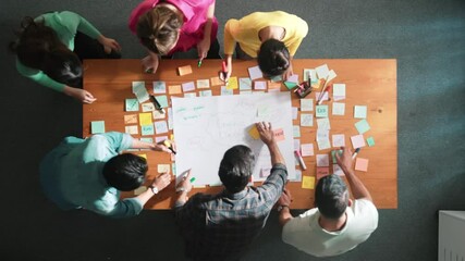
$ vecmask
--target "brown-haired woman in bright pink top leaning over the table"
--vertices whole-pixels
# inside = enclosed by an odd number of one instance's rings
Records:
[[[131,13],[130,29],[148,49],[142,60],[146,72],[157,71],[161,55],[192,48],[199,60],[221,58],[215,0],[145,0]]]

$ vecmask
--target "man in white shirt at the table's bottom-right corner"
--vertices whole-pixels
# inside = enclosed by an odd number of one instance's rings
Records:
[[[292,216],[292,196],[284,190],[278,201],[282,240],[315,257],[332,257],[354,249],[368,239],[378,227],[378,211],[371,196],[352,169],[352,151],[343,148],[336,153],[338,164],[347,178],[352,195],[338,175],[319,179],[315,190],[315,204],[299,216]]]

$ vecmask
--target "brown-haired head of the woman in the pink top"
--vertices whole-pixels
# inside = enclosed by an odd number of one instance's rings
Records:
[[[139,17],[136,32],[140,42],[148,50],[163,55],[178,42],[183,23],[179,11],[157,5]]]

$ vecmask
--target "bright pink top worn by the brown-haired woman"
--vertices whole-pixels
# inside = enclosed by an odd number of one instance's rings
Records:
[[[137,22],[140,15],[154,9],[159,2],[159,0],[145,0],[133,10],[130,16],[130,29],[134,35],[136,35]],[[161,2],[173,4],[184,14],[184,24],[181,27],[180,39],[168,54],[178,51],[184,52],[195,47],[204,38],[208,8],[215,4],[215,0],[164,0]],[[218,21],[213,17],[211,23],[211,41],[215,41],[217,38],[217,32]]]

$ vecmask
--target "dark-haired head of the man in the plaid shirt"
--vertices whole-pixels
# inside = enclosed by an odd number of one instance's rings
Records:
[[[224,152],[218,172],[221,182],[230,192],[238,192],[245,188],[254,171],[255,156],[244,145],[236,145]]]

